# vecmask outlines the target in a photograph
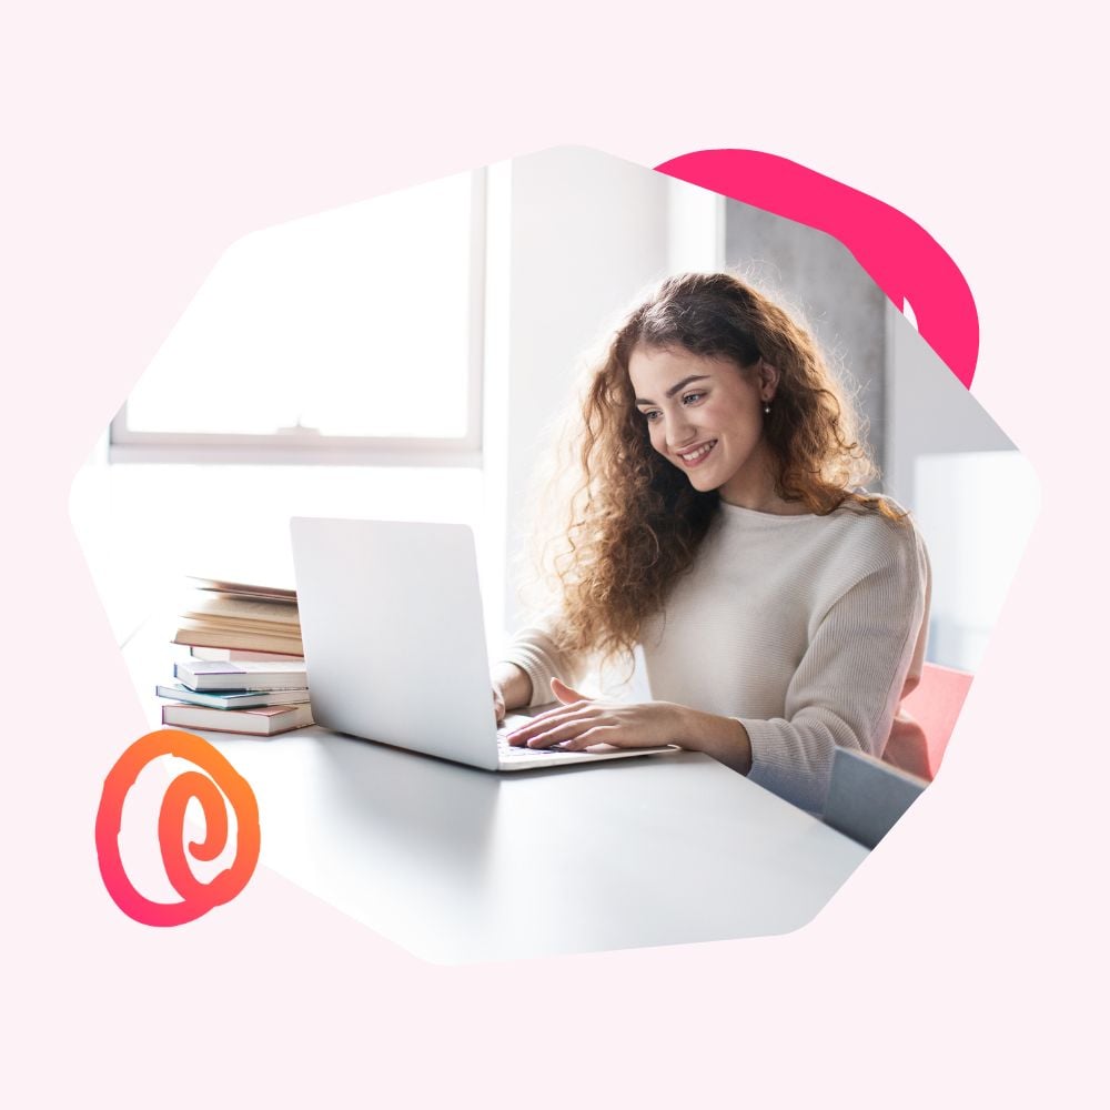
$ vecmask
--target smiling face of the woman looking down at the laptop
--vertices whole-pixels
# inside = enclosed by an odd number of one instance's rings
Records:
[[[763,412],[778,383],[773,367],[760,360],[741,370],[682,347],[637,346],[628,377],[652,446],[695,490],[717,490],[745,508],[778,507]]]

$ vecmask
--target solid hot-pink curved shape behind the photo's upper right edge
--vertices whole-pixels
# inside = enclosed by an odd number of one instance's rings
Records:
[[[839,240],[967,387],[979,355],[979,316],[959,268],[909,216],[867,193],[775,154],[702,150],[656,167]]]

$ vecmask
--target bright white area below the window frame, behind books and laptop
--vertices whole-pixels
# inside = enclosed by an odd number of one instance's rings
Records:
[[[108,464],[77,474],[70,517],[123,643],[176,612],[184,576],[292,585],[291,516],[440,519],[481,513],[474,468]]]

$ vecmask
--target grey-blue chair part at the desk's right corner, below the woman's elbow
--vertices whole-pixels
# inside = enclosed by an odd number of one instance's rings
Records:
[[[929,784],[875,756],[837,748],[823,820],[874,848]]]

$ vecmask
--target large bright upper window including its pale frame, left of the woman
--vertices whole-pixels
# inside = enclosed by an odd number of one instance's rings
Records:
[[[255,232],[112,422],[112,462],[478,465],[485,179]]]

